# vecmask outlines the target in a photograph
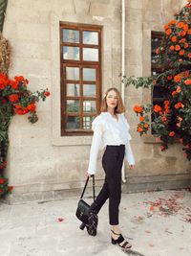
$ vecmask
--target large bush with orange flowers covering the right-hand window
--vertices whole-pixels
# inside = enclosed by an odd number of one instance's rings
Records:
[[[136,105],[139,116],[138,132],[140,135],[149,129],[148,112],[153,115],[152,128],[161,142],[160,149],[168,149],[174,142],[182,144],[182,151],[191,160],[191,0],[180,13],[164,25],[165,36],[157,49],[162,73],[149,78],[124,78],[126,85],[137,88],[163,87],[166,99],[163,105]]]

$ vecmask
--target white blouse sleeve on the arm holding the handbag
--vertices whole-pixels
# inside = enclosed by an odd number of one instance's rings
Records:
[[[101,145],[102,140],[102,127],[100,124],[97,124],[94,128],[94,136],[92,141],[92,146],[90,150],[90,160],[88,167],[88,174],[95,175],[96,174],[96,161],[98,156],[98,151]]]

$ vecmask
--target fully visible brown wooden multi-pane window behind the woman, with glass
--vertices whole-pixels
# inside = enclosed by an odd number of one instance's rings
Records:
[[[101,101],[101,27],[60,23],[61,135],[85,135]]]

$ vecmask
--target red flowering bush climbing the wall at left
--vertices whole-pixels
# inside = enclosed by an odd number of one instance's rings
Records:
[[[22,76],[11,80],[5,74],[0,73],[0,198],[12,190],[12,187],[8,185],[8,179],[4,177],[11,117],[15,114],[28,114],[30,123],[37,122],[36,103],[40,99],[45,101],[50,95],[48,89],[31,92],[28,84],[29,81]]]

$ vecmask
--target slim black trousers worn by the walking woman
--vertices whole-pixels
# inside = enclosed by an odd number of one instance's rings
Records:
[[[109,221],[111,225],[118,224],[118,206],[121,198],[121,168],[124,159],[125,146],[107,146],[102,157],[105,171],[105,182],[96,197],[96,213],[109,198]]]

